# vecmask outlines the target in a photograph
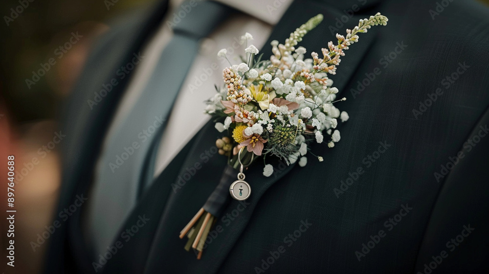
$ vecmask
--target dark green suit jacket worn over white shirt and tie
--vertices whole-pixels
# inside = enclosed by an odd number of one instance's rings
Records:
[[[352,18],[350,10],[357,10]],[[92,110],[87,100],[141,50],[166,11],[162,2],[124,18],[94,48],[67,102],[57,212],[87,195],[129,77]],[[226,164],[211,153],[218,132],[209,123],[141,197],[117,240],[122,247],[98,273],[487,272],[488,8],[470,0],[296,0],[269,41],[284,41],[322,13],[300,44],[319,52],[334,41],[332,32],[377,12],[387,26],[360,35],[332,77],[338,97],[347,98],[339,108],[351,118],[333,149],[312,145],[323,162],[277,162],[271,177],[252,166],[251,197],[229,203],[197,260],[178,233]],[[269,43],[261,52],[270,55]],[[171,184],[197,162],[202,168],[174,191]],[[100,262],[84,244],[83,210],[50,238],[46,273],[93,273],[92,262]],[[134,225],[137,233],[123,234]]]

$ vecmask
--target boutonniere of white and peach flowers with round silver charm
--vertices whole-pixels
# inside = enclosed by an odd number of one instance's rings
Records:
[[[311,152],[309,140],[325,143],[329,148],[340,140],[338,119],[345,122],[349,116],[334,104],[346,98],[336,98],[338,89],[328,76],[336,74],[341,57],[358,42],[359,33],[366,33],[374,25],[386,25],[388,19],[377,13],[360,20],[353,29],[346,30],[346,36],[336,34],[337,43],[329,42],[322,48],[321,57],[311,52],[311,58],[305,59],[306,48],[296,46],[322,20],[322,14],[314,16],[292,32],[284,44],[272,41],[273,55],[269,60],[261,60],[259,50],[248,46],[252,40],[249,33],[242,37],[246,43],[242,63],[233,65],[228,60],[230,66],[222,71],[224,86],[216,87],[218,93],[207,101],[205,110],[216,119],[216,129],[227,132],[216,146],[221,155],[229,158],[229,165],[239,170],[238,180],[230,186],[231,182],[221,180],[209,200],[222,197],[223,192],[229,192],[236,200],[246,200],[251,186],[244,181],[243,172],[254,160],[263,158],[263,175],[270,176],[273,166],[267,164],[267,157],[278,157],[287,164],[299,161],[299,166],[305,166],[308,151],[315,159],[323,160]],[[218,56],[227,59],[226,50],[220,50]],[[216,200],[224,199],[214,199],[213,206]],[[182,238],[190,231],[186,249],[192,246],[199,252],[198,258],[217,217],[206,205],[180,233]]]

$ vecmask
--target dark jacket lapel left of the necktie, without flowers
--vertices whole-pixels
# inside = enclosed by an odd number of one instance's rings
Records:
[[[132,62],[134,54],[139,54],[148,36],[159,25],[166,12],[166,7],[167,1],[162,1],[156,7],[152,7],[151,10],[156,10],[156,12],[152,12],[149,18],[146,15],[147,10],[126,18],[128,23],[123,27],[111,29],[108,34],[105,34],[94,48],[95,54],[87,60],[87,68],[96,67],[97,69],[84,70],[72,93],[73,96],[67,103],[64,115],[67,120],[63,128],[63,133],[67,135],[67,141],[63,144],[66,151],[64,155],[66,166],[62,179],[64,184],[61,189],[59,209],[56,212],[72,204],[76,195],[88,196],[87,191],[92,181],[94,163],[101,149],[101,140],[103,140],[115,107],[131,78],[120,79],[116,71]],[[113,81],[112,79],[117,80],[117,84],[111,86],[111,90],[105,93],[107,95],[101,96],[103,85],[108,86]],[[98,95],[95,95],[94,92]],[[81,237],[80,210],[69,219],[67,227],[69,227],[67,228],[68,234],[56,233],[59,236],[52,239],[53,244],[49,251],[48,261],[48,265],[51,266],[48,267],[53,269],[63,267],[59,265],[59,258],[64,255],[64,250],[59,247],[63,245],[65,237],[68,236],[73,257],[79,259],[81,268],[85,266],[90,268],[89,254],[91,253],[87,251]]]

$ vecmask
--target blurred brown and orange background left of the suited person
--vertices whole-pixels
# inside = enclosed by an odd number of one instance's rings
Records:
[[[47,245],[37,246],[38,238],[52,225],[60,186],[59,147],[54,142],[63,134],[60,107],[90,46],[110,29],[112,19],[153,1],[1,1],[0,182],[7,184],[7,156],[14,155],[15,273],[36,274],[42,269]],[[6,201],[5,190],[1,201]],[[1,208],[7,206],[2,203]],[[5,221],[0,228],[4,254]],[[0,272],[14,273],[4,260],[2,255]]]

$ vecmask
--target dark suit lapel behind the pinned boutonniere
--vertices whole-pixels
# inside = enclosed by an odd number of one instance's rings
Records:
[[[300,46],[304,46],[308,50],[308,55],[311,51],[320,52],[321,47],[327,46],[327,41],[335,41],[334,35],[331,35],[329,26],[336,22],[335,19],[344,15],[341,11],[327,9],[327,6],[311,2],[304,4],[301,1],[295,1],[291,4],[282,20],[278,23],[266,46],[261,50],[264,53],[264,58],[269,57],[271,52],[270,42],[272,40],[285,41],[289,37],[290,31],[305,23],[317,13],[324,15],[324,21],[311,31]],[[344,33],[347,27],[352,28],[356,25],[362,16],[354,16],[338,33]],[[369,32],[372,30],[369,30]],[[360,64],[362,56],[367,53],[372,45],[374,33],[360,37],[358,44],[352,45],[352,49],[342,58],[339,74],[334,75],[333,86],[338,89],[343,89],[348,80],[354,74],[357,66]],[[370,38],[369,38],[370,37]],[[220,134],[214,129],[213,123],[209,123],[204,129],[206,132],[202,139],[198,139],[198,145],[195,145],[194,150],[187,162],[182,166],[180,174],[185,174],[186,169],[191,168],[202,157],[204,150],[210,150],[214,147],[216,137]],[[178,233],[192,216],[204,204],[209,194],[219,183],[225,163],[222,157],[214,157],[209,162],[202,164],[205,171],[198,171],[197,175],[185,182],[185,185],[179,188],[175,194],[171,194],[166,203],[166,208],[161,216],[158,232],[153,242],[153,247],[148,255],[148,262],[145,273],[157,273],[158,271],[165,272],[189,272],[189,273],[216,273],[223,260],[226,258],[229,251],[235,245],[240,235],[246,228],[252,213],[262,195],[267,189],[277,183],[282,177],[290,172],[295,164],[287,166],[278,160],[267,159],[267,163],[273,164],[275,170],[270,177],[263,176],[263,166],[261,161],[253,164],[246,174],[246,181],[252,187],[252,195],[246,201],[246,204],[232,200],[224,210],[223,216],[219,216],[216,226],[221,226],[223,230],[217,233],[210,244],[208,244],[203,252],[200,260],[196,259],[193,252],[183,250],[184,240],[178,238]],[[231,183],[231,182],[230,182]],[[244,207],[245,206],[245,207]],[[225,218],[226,214],[237,217]],[[232,215],[234,214],[234,215]],[[231,220],[232,219],[232,220]],[[213,229],[214,229],[213,228]]]

